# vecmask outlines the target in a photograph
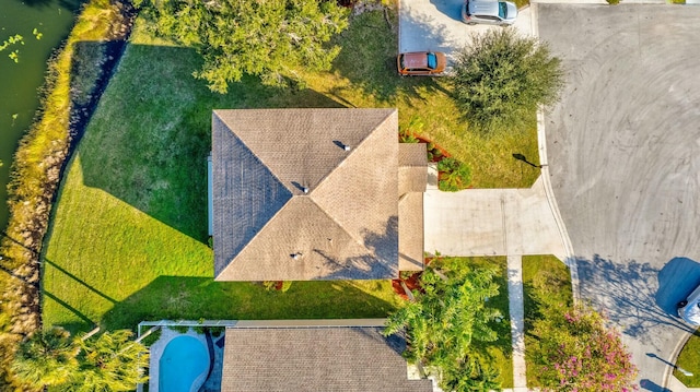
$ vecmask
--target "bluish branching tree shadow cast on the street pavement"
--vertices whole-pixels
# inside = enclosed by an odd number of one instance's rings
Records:
[[[688,294],[684,292],[685,287],[693,284],[680,284],[684,278],[678,274],[695,271],[697,263],[693,261],[676,258],[660,271],[650,263],[635,260],[617,263],[595,254],[592,260],[578,259],[576,264],[582,297],[620,325],[622,333],[632,337],[646,336],[657,325],[693,331],[675,311],[675,302]],[[681,286],[680,289],[670,288],[674,284]]]

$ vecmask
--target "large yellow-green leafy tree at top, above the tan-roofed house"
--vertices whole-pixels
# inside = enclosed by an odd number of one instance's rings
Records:
[[[283,85],[294,69],[327,70],[340,48],[326,46],[348,26],[348,10],[318,0],[136,0],[150,29],[194,46],[195,78],[218,93],[244,74]]]

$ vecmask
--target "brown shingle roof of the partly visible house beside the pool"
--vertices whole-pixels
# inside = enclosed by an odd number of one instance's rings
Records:
[[[431,392],[408,380],[404,338],[383,328],[226,329],[223,392]]]

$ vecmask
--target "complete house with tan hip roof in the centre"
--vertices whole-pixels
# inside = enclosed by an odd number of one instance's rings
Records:
[[[214,110],[217,281],[395,278],[423,268],[424,144],[396,109]]]

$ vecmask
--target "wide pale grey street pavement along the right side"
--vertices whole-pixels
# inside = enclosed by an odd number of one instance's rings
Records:
[[[568,69],[545,128],[582,297],[622,331],[642,390],[662,391],[692,331],[675,304],[700,284],[700,8],[535,7]]]

